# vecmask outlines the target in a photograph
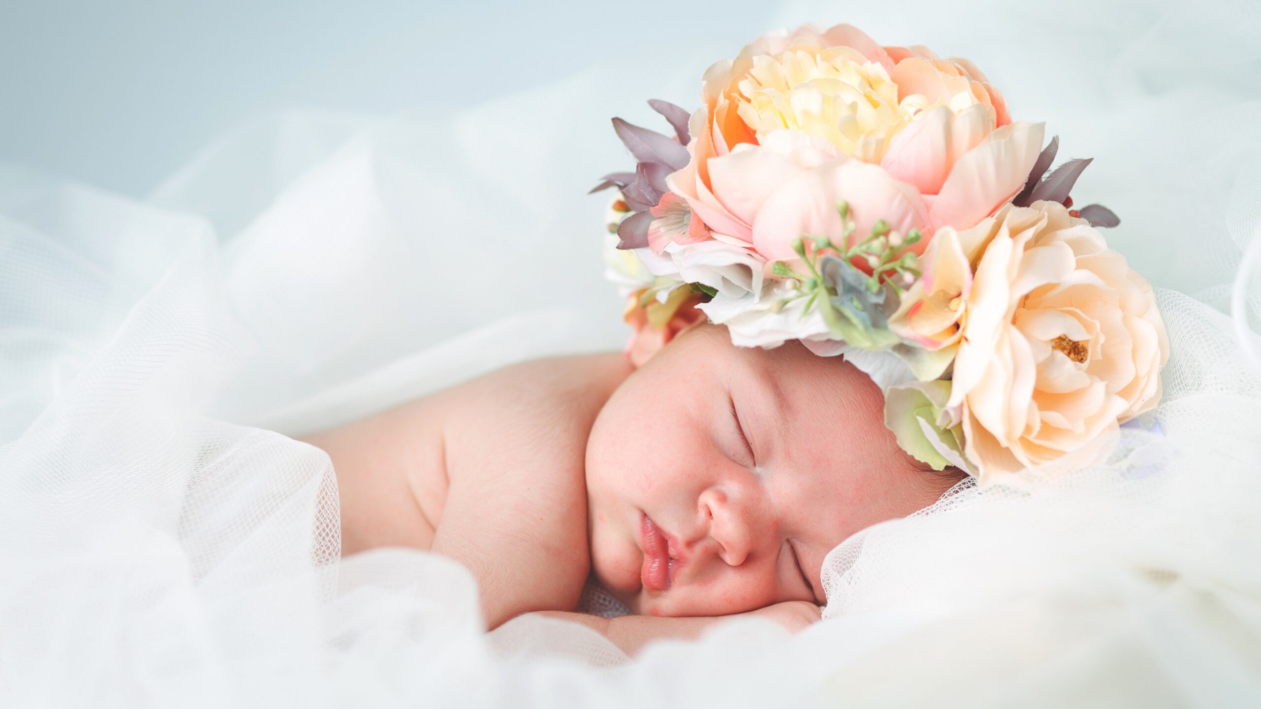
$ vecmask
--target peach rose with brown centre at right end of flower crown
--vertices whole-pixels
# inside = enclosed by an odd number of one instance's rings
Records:
[[[947,407],[989,482],[1155,406],[1169,343],[1151,286],[1062,204],[1006,204],[976,230]]]

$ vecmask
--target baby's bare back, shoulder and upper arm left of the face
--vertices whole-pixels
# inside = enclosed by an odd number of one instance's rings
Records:
[[[590,568],[586,438],[628,373],[620,354],[526,362],[306,437],[337,471],[342,554],[455,559],[492,628],[574,609]]]

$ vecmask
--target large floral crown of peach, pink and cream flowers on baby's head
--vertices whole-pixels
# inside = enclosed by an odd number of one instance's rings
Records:
[[[663,135],[613,119],[607,274],[642,363],[707,318],[798,339],[885,392],[910,455],[990,482],[1155,406],[1168,341],[1151,286],[1072,208],[1090,160],[1013,121],[962,58],[851,25],[767,34],[705,72]]]

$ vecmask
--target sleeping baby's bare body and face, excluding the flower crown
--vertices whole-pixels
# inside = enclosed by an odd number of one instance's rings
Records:
[[[881,410],[840,357],[697,324],[639,368],[526,362],[306,440],[337,471],[343,555],[427,549],[473,573],[488,627],[540,612],[633,653],[734,614],[817,621],[832,548],[962,478]],[[575,612],[589,577],[634,614]]]

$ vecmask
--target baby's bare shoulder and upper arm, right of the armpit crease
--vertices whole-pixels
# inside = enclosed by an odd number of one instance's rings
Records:
[[[576,604],[586,437],[625,372],[619,354],[540,360],[444,392],[450,491],[433,550],[478,577],[492,627]]]

